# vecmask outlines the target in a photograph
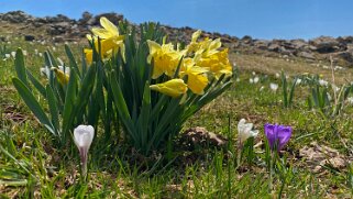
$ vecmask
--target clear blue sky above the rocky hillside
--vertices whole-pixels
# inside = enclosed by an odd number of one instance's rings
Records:
[[[80,18],[118,12],[140,23],[159,21],[255,38],[353,35],[352,0],[0,0],[0,12]]]

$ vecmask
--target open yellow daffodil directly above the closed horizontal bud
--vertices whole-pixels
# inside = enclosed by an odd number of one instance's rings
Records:
[[[150,55],[147,62],[151,64],[153,58],[152,78],[156,79],[161,75],[166,74],[172,77],[183,56],[183,52],[175,51],[172,43],[159,45],[156,42],[147,41]]]

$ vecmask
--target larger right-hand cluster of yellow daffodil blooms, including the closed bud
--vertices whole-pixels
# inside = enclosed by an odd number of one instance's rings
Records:
[[[211,78],[232,75],[228,48],[220,51],[222,43],[219,38],[198,41],[200,34],[201,31],[195,32],[185,49],[179,49],[179,46],[175,47],[172,43],[166,44],[165,38],[162,45],[147,41],[147,60],[153,64],[152,78],[157,79],[163,75],[172,78],[166,82],[152,85],[151,89],[174,98],[186,93],[188,89],[196,95],[203,95]]]

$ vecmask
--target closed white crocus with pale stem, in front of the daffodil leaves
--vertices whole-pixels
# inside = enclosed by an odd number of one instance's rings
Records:
[[[79,125],[74,130],[74,142],[79,151],[81,159],[81,176],[87,177],[87,154],[95,137],[95,129],[91,125]]]

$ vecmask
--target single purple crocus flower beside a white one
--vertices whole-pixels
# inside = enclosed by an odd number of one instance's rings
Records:
[[[278,125],[278,124],[265,124],[265,135],[268,140],[271,150],[274,150],[275,145],[280,151],[291,136],[291,126]]]

